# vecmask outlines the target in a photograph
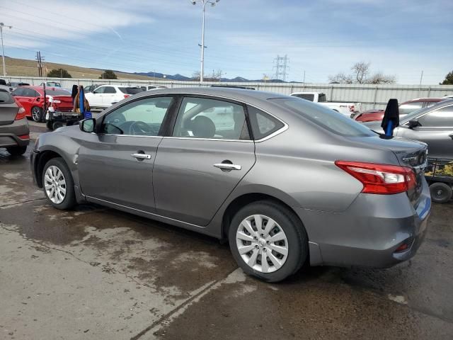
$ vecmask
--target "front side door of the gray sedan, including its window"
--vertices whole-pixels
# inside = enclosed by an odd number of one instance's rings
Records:
[[[139,98],[106,113],[79,141],[79,181],[88,198],[154,212],[153,166],[172,96]]]

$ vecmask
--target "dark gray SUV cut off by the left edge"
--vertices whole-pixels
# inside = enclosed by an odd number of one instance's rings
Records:
[[[25,110],[8,91],[0,89],[0,148],[13,156],[24,154],[30,142]]]

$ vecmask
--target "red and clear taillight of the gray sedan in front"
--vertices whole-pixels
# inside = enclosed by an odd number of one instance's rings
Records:
[[[406,166],[348,161],[336,161],[335,164],[362,182],[362,193],[389,195],[415,188],[415,174]]]

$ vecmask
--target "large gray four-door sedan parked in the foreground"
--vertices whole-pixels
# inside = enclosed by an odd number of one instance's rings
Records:
[[[410,259],[430,214],[426,152],[294,96],[193,88],[42,134],[31,162],[55,208],[93,202],[228,239],[243,271],[275,282],[304,263]]]

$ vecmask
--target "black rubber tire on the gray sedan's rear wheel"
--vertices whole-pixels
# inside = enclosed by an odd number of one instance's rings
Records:
[[[271,273],[263,273],[248,266],[246,261],[241,257],[241,254],[239,254],[238,245],[236,244],[236,232],[238,231],[241,222],[251,215],[270,217],[277,222],[277,225],[280,226],[287,237],[286,261],[283,263],[282,267]],[[231,253],[242,270],[248,275],[256,276],[267,282],[284,280],[288,276],[299,271],[308,259],[308,237],[306,236],[306,231],[302,222],[294,215],[294,212],[288,210],[285,206],[270,200],[261,200],[250,203],[236,212],[236,215],[232,218],[229,226],[228,239]],[[264,250],[265,249],[263,249],[263,251]]]

